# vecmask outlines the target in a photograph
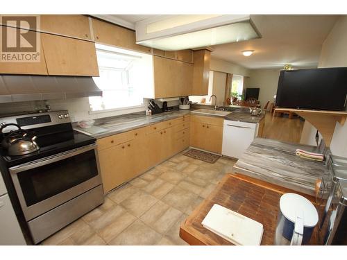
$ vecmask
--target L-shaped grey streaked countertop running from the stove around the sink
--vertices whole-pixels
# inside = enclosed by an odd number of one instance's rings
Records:
[[[209,106],[211,109],[212,107]],[[230,111],[230,114],[222,117],[223,119],[227,120],[233,120],[233,121],[243,121],[248,123],[259,123],[259,121],[265,116],[265,113],[262,112],[260,116],[251,116],[249,114],[248,108],[242,108],[242,107],[228,107],[229,109],[232,109]],[[95,137],[96,139],[100,139],[103,137],[108,137],[110,135],[116,135],[121,132],[127,132],[130,130],[134,130],[137,128],[142,128],[148,125],[152,125],[153,123],[159,123],[162,121],[175,119],[180,116],[184,116],[187,114],[190,114],[191,111],[196,110],[196,107],[192,107],[191,110],[174,110],[171,112],[164,112],[161,114],[153,114],[151,116],[146,116],[144,112],[137,112],[137,113],[131,113],[131,114],[123,114],[120,116],[112,116],[112,117],[105,117],[103,119],[95,119],[95,126],[98,126],[99,128],[105,129],[104,132],[101,132],[99,134],[88,134],[88,129],[82,129],[79,128],[77,123],[74,123],[74,129],[87,133],[88,135]],[[204,116],[215,116],[215,115],[205,115]]]

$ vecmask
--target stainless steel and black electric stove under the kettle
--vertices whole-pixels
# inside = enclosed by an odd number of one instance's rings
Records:
[[[96,139],[73,130],[67,111],[0,118],[8,123],[37,137],[39,149],[32,153],[0,150],[12,204],[36,244],[103,203]],[[17,130],[12,127],[3,128],[4,137]]]

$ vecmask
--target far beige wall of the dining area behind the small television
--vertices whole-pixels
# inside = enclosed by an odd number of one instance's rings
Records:
[[[246,87],[259,87],[260,105],[264,107],[267,101],[273,102],[278,86],[279,69],[252,69],[246,81]]]

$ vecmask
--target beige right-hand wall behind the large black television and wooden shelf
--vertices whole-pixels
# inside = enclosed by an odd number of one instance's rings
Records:
[[[319,59],[319,67],[347,67],[347,15],[342,15],[337,20],[332,31],[325,39]],[[308,122],[305,122],[305,128],[311,135],[302,135],[301,143],[310,144],[314,139],[316,129]],[[336,123],[330,150],[333,155],[347,157],[347,123],[344,125]]]

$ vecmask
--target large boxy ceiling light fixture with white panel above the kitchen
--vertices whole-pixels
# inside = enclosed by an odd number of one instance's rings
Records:
[[[158,15],[137,21],[135,31],[137,44],[164,51],[261,37],[251,15]]]

